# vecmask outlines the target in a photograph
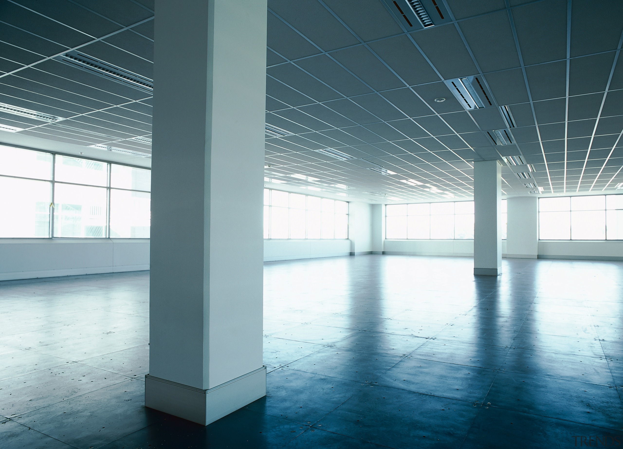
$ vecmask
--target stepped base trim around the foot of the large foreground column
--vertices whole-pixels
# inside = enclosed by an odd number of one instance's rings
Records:
[[[208,425],[266,396],[266,367],[208,390],[145,376],[145,407]]]

